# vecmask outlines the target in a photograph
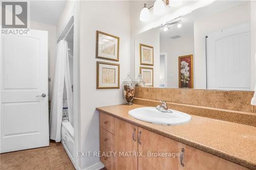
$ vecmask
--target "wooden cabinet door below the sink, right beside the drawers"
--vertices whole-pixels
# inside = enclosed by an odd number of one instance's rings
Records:
[[[115,169],[136,170],[138,167],[138,127],[115,118]]]

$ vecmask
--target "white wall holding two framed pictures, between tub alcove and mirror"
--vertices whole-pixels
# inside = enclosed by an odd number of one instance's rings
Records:
[[[92,17],[93,16],[93,17]],[[120,85],[130,71],[130,2],[80,2],[80,115],[78,151],[99,151],[99,113],[96,107],[124,103],[122,88],[96,89],[96,30],[120,37]],[[84,169],[99,162],[97,157],[81,157]]]

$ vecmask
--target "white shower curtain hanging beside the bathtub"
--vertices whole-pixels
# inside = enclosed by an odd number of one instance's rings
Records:
[[[69,69],[68,42],[66,40],[60,40],[57,44],[55,63],[50,112],[50,139],[59,142],[61,140],[63,90],[67,91],[69,121],[73,123],[73,93]]]

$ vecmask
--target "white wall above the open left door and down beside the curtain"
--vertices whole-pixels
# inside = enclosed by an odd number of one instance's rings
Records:
[[[51,77],[51,82],[49,82],[49,99],[52,99],[52,87],[56,55],[56,27],[46,25],[40,22],[30,21],[30,28],[34,30],[48,31],[48,75],[49,77]]]

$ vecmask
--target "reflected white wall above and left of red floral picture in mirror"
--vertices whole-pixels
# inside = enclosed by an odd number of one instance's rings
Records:
[[[194,36],[160,39],[160,53],[167,53],[167,87],[179,88],[179,57],[194,55]]]

